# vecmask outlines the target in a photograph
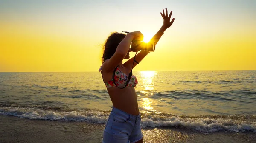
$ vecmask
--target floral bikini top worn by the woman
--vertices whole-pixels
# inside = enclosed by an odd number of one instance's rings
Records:
[[[101,68],[99,69],[99,71],[101,71]],[[128,80],[128,75],[123,73],[117,67],[114,79],[115,79],[116,85],[118,87],[124,87],[125,84],[126,84],[126,81]],[[136,84],[138,84],[137,78],[136,78],[136,76],[132,75],[127,86],[128,87],[136,87]],[[113,78],[110,81],[108,81],[107,83],[105,83],[105,85],[106,85],[107,88],[116,87],[116,85],[113,82]]]

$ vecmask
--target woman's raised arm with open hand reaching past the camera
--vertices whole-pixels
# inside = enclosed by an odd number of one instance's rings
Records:
[[[171,17],[172,17],[172,11],[170,12],[170,14],[168,16],[167,8],[166,8],[166,12],[164,12],[164,10],[163,10],[163,13],[161,12],[160,14],[163,17],[163,25],[161,26],[160,30],[157,31],[157,33],[150,40],[150,42],[155,42],[155,44],[157,44],[157,42],[160,40],[160,38],[162,37],[162,35],[166,31],[166,29],[171,27],[172,23],[175,20],[174,18],[172,18],[172,21],[170,21]],[[145,56],[148,55],[148,53],[149,53],[148,51],[140,51],[140,53],[138,53],[136,55],[135,60],[138,63],[140,63],[145,58]],[[134,57],[129,59],[127,62],[125,62],[125,64],[126,64],[126,66],[132,67],[133,62],[134,62]],[[132,68],[134,68],[138,63],[134,62],[134,66]]]

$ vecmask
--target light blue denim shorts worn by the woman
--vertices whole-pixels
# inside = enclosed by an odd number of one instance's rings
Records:
[[[142,139],[140,114],[135,116],[112,107],[102,143],[135,143]]]

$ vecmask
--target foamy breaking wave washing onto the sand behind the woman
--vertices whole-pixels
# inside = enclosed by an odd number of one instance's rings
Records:
[[[105,124],[110,111],[85,109],[79,111],[45,110],[36,107],[0,107],[0,115],[12,115],[33,120],[76,121]],[[141,125],[146,127],[176,127],[200,132],[256,132],[255,115],[184,116],[169,113],[141,113]]]

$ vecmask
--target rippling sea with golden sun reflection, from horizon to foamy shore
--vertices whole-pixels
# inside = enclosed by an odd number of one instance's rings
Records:
[[[133,72],[143,127],[256,132],[256,71]],[[0,73],[0,115],[105,123],[99,72]]]

